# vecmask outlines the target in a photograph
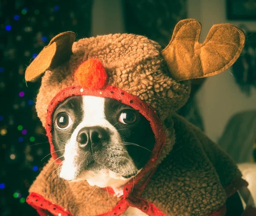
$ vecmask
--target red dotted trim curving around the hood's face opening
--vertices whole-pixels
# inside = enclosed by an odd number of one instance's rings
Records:
[[[95,96],[95,97],[108,97],[112,99],[116,99],[126,105],[131,106],[132,108],[138,110],[149,122],[152,128],[152,131],[154,133],[155,137],[155,145],[153,148],[153,151],[151,153],[151,156],[143,168],[143,170],[137,175],[137,178],[135,179],[135,182],[130,181],[125,185],[124,188],[124,195],[123,197],[127,197],[133,188],[133,184],[136,184],[144,175],[147,173],[150,169],[154,167],[155,162],[157,161],[162,148],[166,141],[166,135],[165,131],[162,125],[162,122],[160,121],[159,117],[156,114],[156,111],[154,111],[151,106],[143,102],[141,99],[132,96],[131,94],[128,94],[127,92],[123,91],[120,88],[116,88],[111,85],[107,85],[106,88],[100,89],[100,90],[93,90],[93,89],[87,89],[82,88],[80,85],[70,86],[62,91],[60,91],[56,96],[52,99],[52,101],[49,104],[49,107],[47,109],[47,125],[46,125],[46,131],[47,136],[49,138],[50,143],[50,150],[52,153],[52,158],[55,159],[57,163],[61,163],[61,159],[58,159],[57,153],[55,152],[54,146],[52,144],[52,114],[55,110],[55,108],[63,102],[67,97],[71,96],[79,96],[79,95],[89,95],[89,96]]]

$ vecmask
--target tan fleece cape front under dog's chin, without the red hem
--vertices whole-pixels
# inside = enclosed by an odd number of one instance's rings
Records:
[[[108,192],[102,188],[95,189],[87,181],[68,182],[60,179],[58,177],[59,165],[53,161],[51,158],[44,166],[29,189],[30,193],[35,192],[44,196],[54,204],[66,208],[74,216],[95,216],[108,212],[121,199],[111,194],[108,195]]]

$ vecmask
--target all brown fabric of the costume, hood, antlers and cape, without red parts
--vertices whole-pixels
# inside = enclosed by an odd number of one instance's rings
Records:
[[[56,36],[48,47],[57,46],[43,50],[26,71],[26,79],[33,80],[48,68],[36,102],[44,127],[50,101],[62,89],[79,84],[73,74],[89,58],[102,62],[109,76],[108,85],[140,98],[157,112],[166,130],[166,145],[155,164],[160,165],[141,197],[166,215],[207,215],[218,210],[226,200],[223,187],[241,177],[229,156],[198,128],[174,114],[190,92],[189,81],[177,80],[207,77],[223,71],[234,63],[244,45],[244,34],[229,24],[213,26],[203,44],[198,43],[199,33],[198,22],[188,19],[177,24],[170,44],[163,51],[159,44],[143,36],[109,34],[73,43],[71,54],[73,34],[67,32]],[[71,54],[69,60],[68,55],[64,56],[62,64],[59,50]],[[40,68],[44,59],[47,62]],[[34,75],[32,68],[38,68]],[[29,191],[67,208],[75,216],[106,212],[120,200],[109,195],[108,201],[108,193],[99,188],[90,195],[94,187],[86,181],[64,181],[63,185],[63,180],[55,177],[58,165],[49,165]],[[133,193],[139,188],[140,182],[134,186]]]

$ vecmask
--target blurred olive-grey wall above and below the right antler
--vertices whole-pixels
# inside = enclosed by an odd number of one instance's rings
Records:
[[[205,40],[211,26],[218,23],[231,23],[236,26],[245,24],[250,31],[256,32],[256,21],[227,20],[225,0],[188,0],[188,17],[201,22],[201,43]],[[207,78],[197,98],[205,132],[215,142],[233,114],[256,109],[256,90],[253,89],[250,97],[241,93],[232,76],[232,68]]]

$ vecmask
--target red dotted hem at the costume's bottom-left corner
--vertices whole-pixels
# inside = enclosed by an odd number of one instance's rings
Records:
[[[55,216],[73,216],[67,209],[55,205],[38,193],[30,193],[26,198],[26,202],[35,208],[40,216],[47,216],[47,211]]]

